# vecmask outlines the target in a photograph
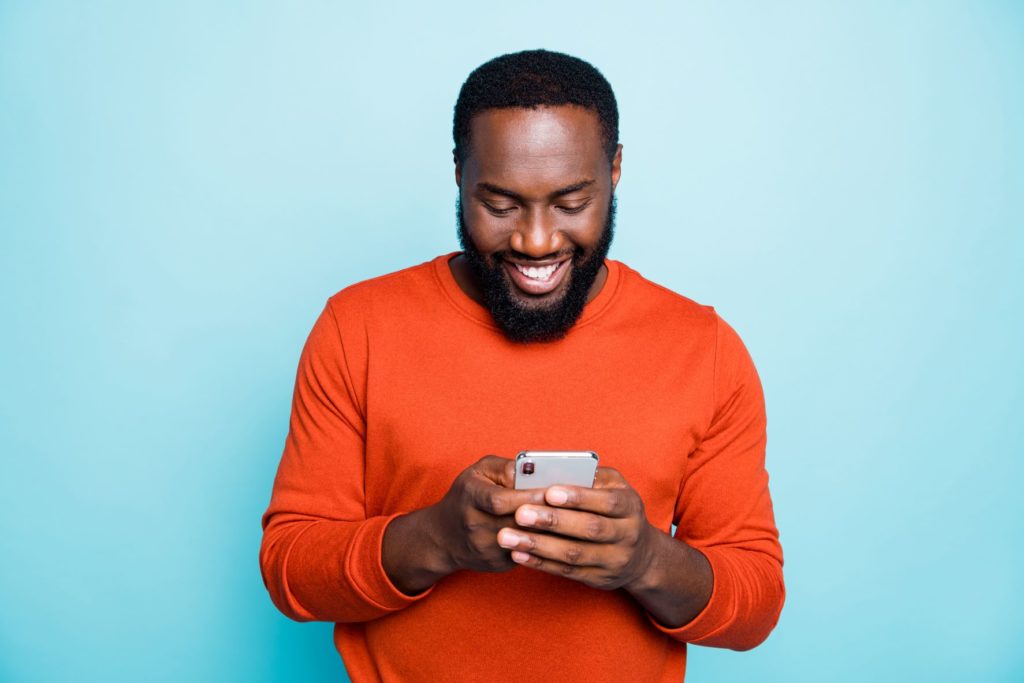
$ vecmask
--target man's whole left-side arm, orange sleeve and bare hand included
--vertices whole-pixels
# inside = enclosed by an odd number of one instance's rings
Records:
[[[512,461],[487,456],[437,504],[367,517],[365,339],[344,334],[329,303],[299,361],[260,549],[271,599],[297,621],[365,622],[425,597],[459,569],[508,570],[515,563],[498,546],[498,529],[515,523],[516,508],[544,500],[544,492],[512,488]]]

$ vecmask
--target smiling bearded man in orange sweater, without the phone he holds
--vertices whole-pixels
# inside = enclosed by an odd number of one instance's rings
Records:
[[[463,252],[336,294],[306,343],[274,604],[336,622],[355,681],[679,681],[687,642],[754,647],[783,599],[761,386],[714,309],[605,258],[610,86],[504,55],[454,133]],[[602,467],[516,490],[527,450]]]

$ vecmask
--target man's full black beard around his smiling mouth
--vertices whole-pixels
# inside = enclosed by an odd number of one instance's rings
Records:
[[[466,219],[462,215],[462,202],[456,198],[456,215],[459,221],[459,244],[462,245],[466,262],[483,293],[484,304],[490,316],[509,340],[518,343],[550,342],[563,338],[583,314],[587,295],[594,285],[604,259],[611,248],[611,237],[615,224],[615,198],[608,202],[608,214],[604,229],[594,250],[588,255],[577,248],[565,273],[569,279],[565,294],[544,306],[527,306],[514,293],[515,285],[509,281],[501,264],[508,252],[497,252],[485,256],[477,250],[469,237]],[[563,266],[566,267],[566,266]]]

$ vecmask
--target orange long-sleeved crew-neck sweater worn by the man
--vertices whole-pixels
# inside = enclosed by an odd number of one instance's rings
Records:
[[[353,681],[680,681],[687,642],[745,649],[782,606],[761,385],[714,309],[608,261],[565,339],[516,345],[453,254],[331,297],[299,361],[260,565],[295,620],[336,622]],[[700,550],[708,606],[679,629],[628,594],[524,567],[410,597],[381,543],[485,454],[595,451],[650,522]]]

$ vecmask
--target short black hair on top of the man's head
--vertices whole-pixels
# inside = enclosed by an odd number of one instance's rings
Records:
[[[618,146],[618,105],[611,84],[591,63],[549,50],[495,57],[473,70],[455,103],[455,158],[466,160],[473,117],[494,109],[575,104],[597,114],[608,161]]]

